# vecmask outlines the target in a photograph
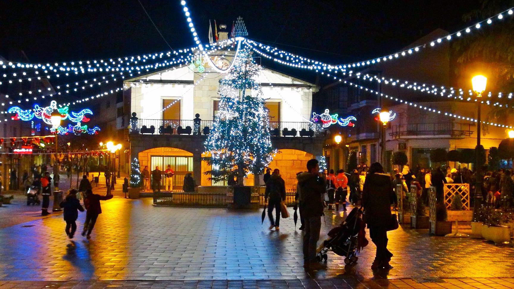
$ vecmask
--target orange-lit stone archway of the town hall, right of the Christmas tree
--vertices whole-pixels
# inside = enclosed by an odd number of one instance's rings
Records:
[[[307,161],[315,158],[313,154],[292,149],[283,149],[275,155],[269,164],[271,172],[280,170],[280,175],[286,183],[286,190],[296,190],[298,172],[307,171]]]

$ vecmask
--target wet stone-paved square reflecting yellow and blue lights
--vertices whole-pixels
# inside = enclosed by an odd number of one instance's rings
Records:
[[[302,232],[295,231],[292,218],[281,220],[280,231],[269,231],[267,220],[261,225],[262,211],[154,207],[151,202],[150,198],[133,201],[120,197],[103,202],[103,213],[90,240],[78,233],[73,241],[67,239],[60,215],[0,229],[0,280],[4,280],[0,288],[465,288],[468,285],[462,284],[491,282],[494,286],[490,287],[514,287],[512,279],[498,279],[514,276],[514,249],[482,240],[430,237],[428,230],[400,227],[389,233],[389,248],[394,254],[389,272],[374,275],[370,269],[375,254],[372,242],[354,266],[345,266],[343,257],[329,253],[326,269],[306,272]],[[79,230],[84,218],[81,213]],[[321,239],[343,218],[342,212],[327,212]],[[130,281],[161,279],[197,281]],[[214,279],[248,282],[206,281]],[[264,279],[272,284],[258,281]],[[393,284],[397,281],[400,283]],[[407,281],[420,283],[409,285]],[[454,281],[462,286],[454,285]]]

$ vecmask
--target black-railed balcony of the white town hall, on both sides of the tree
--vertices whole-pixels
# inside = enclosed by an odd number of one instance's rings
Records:
[[[131,134],[209,135],[213,120],[131,118]],[[314,137],[323,133],[320,125],[310,122],[271,121],[270,134],[275,137]]]

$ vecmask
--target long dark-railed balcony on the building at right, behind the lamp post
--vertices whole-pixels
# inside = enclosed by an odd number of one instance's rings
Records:
[[[442,122],[442,123],[408,123],[391,126],[390,136],[393,138],[418,136],[449,136],[451,138],[465,138],[471,136],[470,123]]]

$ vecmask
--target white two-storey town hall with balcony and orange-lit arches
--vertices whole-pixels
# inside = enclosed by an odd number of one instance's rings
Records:
[[[219,80],[226,76],[218,71],[230,65],[234,51],[219,50],[210,58],[216,67],[203,59],[203,72],[182,65],[124,81],[131,159],[137,157],[141,169],[171,165],[174,189],[181,189],[187,173],[203,187],[226,185],[204,174],[211,168],[201,157],[206,156],[204,142],[219,110]],[[258,81],[269,111],[272,145],[279,150],[269,167],[280,169],[287,189],[296,188],[296,173],[305,171],[307,160],[322,155],[325,137],[309,121],[318,87],[269,68],[262,69]],[[245,184],[252,185],[253,178],[250,174]]]

